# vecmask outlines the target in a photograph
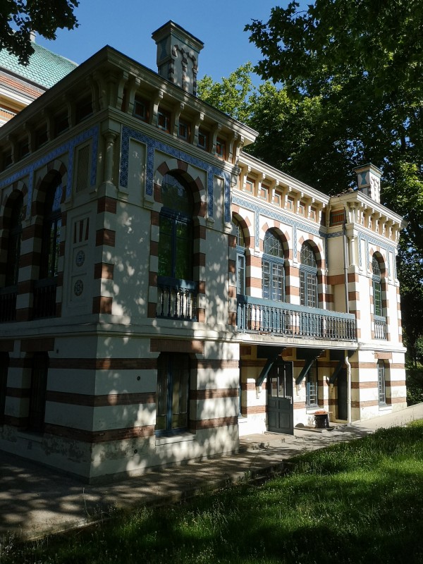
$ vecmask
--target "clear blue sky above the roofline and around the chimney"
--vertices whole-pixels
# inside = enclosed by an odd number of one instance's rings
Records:
[[[267,21],[271,8],[288,0],[80,0],[75,15],[80,27],[59,30],[55,41],[37,37],[38,44],[82,63],[104,45],[157,71],[152,32],[173,20],[204,43],[198,77],[228,76],[243,63],[257,63],[260,51],[244,31],[252,19]]]

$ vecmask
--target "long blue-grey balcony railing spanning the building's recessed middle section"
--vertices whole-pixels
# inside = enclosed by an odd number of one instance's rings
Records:
[[[238,331],[295,338],[356,341],[355,316],[237,295]]]

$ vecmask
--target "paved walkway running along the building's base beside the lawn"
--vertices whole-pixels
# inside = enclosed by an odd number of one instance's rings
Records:
[[[5,533],[30,539],[59,532],[108,514],[110,508],[169,503],[198,491],[281,469],[293,455],[350,441],[379,427],[423,419],[423,403],[376,419],[331,430],[295,429],[295,434],[264,433],[240,439],[240,453],[148,472],[116,484],[90,486],[22,458],[0,453],[0,538]]]

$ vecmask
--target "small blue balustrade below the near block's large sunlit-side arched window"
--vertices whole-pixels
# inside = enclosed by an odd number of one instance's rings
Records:
[[[197,283],[158,276],[157,317],[197,321]]]

